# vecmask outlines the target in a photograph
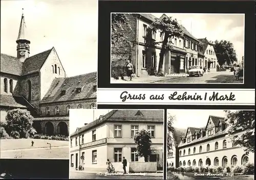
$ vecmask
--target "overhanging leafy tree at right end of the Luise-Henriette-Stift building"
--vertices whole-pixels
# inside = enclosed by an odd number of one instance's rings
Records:
[[[254,152],[254,128],[255,113],[254,111],[225,111],[227,116],[227,132],[233,143],[239,144],[246,151]],[[239,131],[245,131],[242,135],[235,135]]]

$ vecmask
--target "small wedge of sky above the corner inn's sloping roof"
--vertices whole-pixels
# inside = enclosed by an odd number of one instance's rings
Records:
[[[77,127],[84,126],[84,123],[90,123],[105,115],[112,110],[109,109],[70,109],[69,116],[69,132],[74,133]]]

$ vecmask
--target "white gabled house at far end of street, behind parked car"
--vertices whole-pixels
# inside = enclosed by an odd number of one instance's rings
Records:
[[[214,44],[210,43],[206,38],[198,40],[200,40],[203,46],[203,67],[206,67],[208,71],[217,71],[218,59],[215,54]]]

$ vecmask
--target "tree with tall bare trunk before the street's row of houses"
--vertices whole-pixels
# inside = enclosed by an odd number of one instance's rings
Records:
[[[159,19],[152,22],[150,27],[147,29],[148,34],[160,32],[160,36],[164,36],[163,41],[155,42],[154,44],[162,44],[160,51],[160,59],[158,65],[158,73],[162,73],[163,71],[163,58],[166,51],[170,48],[167,45],[169,38],[172,37],[180,37],[183,35],[183,30],[181,25],[178,23],[177,19],[172,19],[172,17],[168,17],[163,14]],[[150,38],[150,37],[148,37]]]

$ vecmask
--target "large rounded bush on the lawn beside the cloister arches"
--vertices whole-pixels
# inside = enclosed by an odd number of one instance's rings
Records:
[[[5,130],[9,135],[15,134],[17,137],[16,132],[18,132],[19,138],[28,138],[36,133],[33,128],[33,120],[34,118],[29,111],[13,109],[8,111],[6,115]]]

